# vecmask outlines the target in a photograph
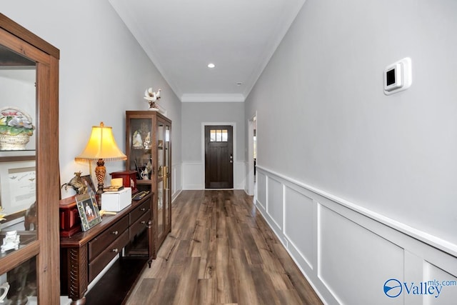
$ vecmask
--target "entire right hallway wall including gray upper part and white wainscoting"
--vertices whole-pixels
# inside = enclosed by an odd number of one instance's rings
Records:
[[[308,0],[246,99],[258,208],[328,304],[457,295],[382,291],[457,276],[456,16],[451,0]],[[411,88],[385,96],[406,56]]]

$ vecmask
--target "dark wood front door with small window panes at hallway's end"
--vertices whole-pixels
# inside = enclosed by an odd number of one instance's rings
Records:
[[[205,188],[233,189],[233,126],[205,126]]]

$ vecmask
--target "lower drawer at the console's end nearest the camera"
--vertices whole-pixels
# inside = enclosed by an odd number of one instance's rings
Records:
[[[124,246],[129,243],[129,230],[125,230],[112,244],[106,247],[99,256],[89,263],[89,282],[102,271],[114,256],[121,253]]]

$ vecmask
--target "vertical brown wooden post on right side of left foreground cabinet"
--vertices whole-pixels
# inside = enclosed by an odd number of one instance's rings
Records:
[[[39,300],[58,304],[60,296],[59,262],[59,61],[49,56],[50,65],[38,64],[37,75],[37,126],[40,133],[36,141],[37,200],[41,205],[39,240],[43,243],[39,259]],[[50,149],[51,148],[51,149]],[[46,211],[44,213],[44,211]],[[44,284],[47,283],[47,284]],[[55,302],[55,303],[54,303]]]

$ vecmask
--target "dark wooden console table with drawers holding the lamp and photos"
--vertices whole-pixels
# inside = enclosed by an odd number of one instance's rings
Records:
[[[61,237],[61,294],[68,295],[73,300],[71,304],[91,303],[91,297],[86,300],[84,296],[87,286],[116,255],[119,259],[111,269],[121,269],[118,272],[121,278],[117,279],[119,285],[110,282],[97,288],[94,286],[94,289],[99,296],[110,296],[109,300],[105,299],[106,304],[117,304],[111,296],[119,291],[124,291],[119,296],[121,302],[129,296],[131,286],[136,283],[146,262],[151,266],[156,252],[151,221],[153,197],[154,194],[148,194],[140,201],[132,201],[131,206],[116,215],[103,216],[101,223],[89,231]],[[111,269],[100,281],[113,277]]]

